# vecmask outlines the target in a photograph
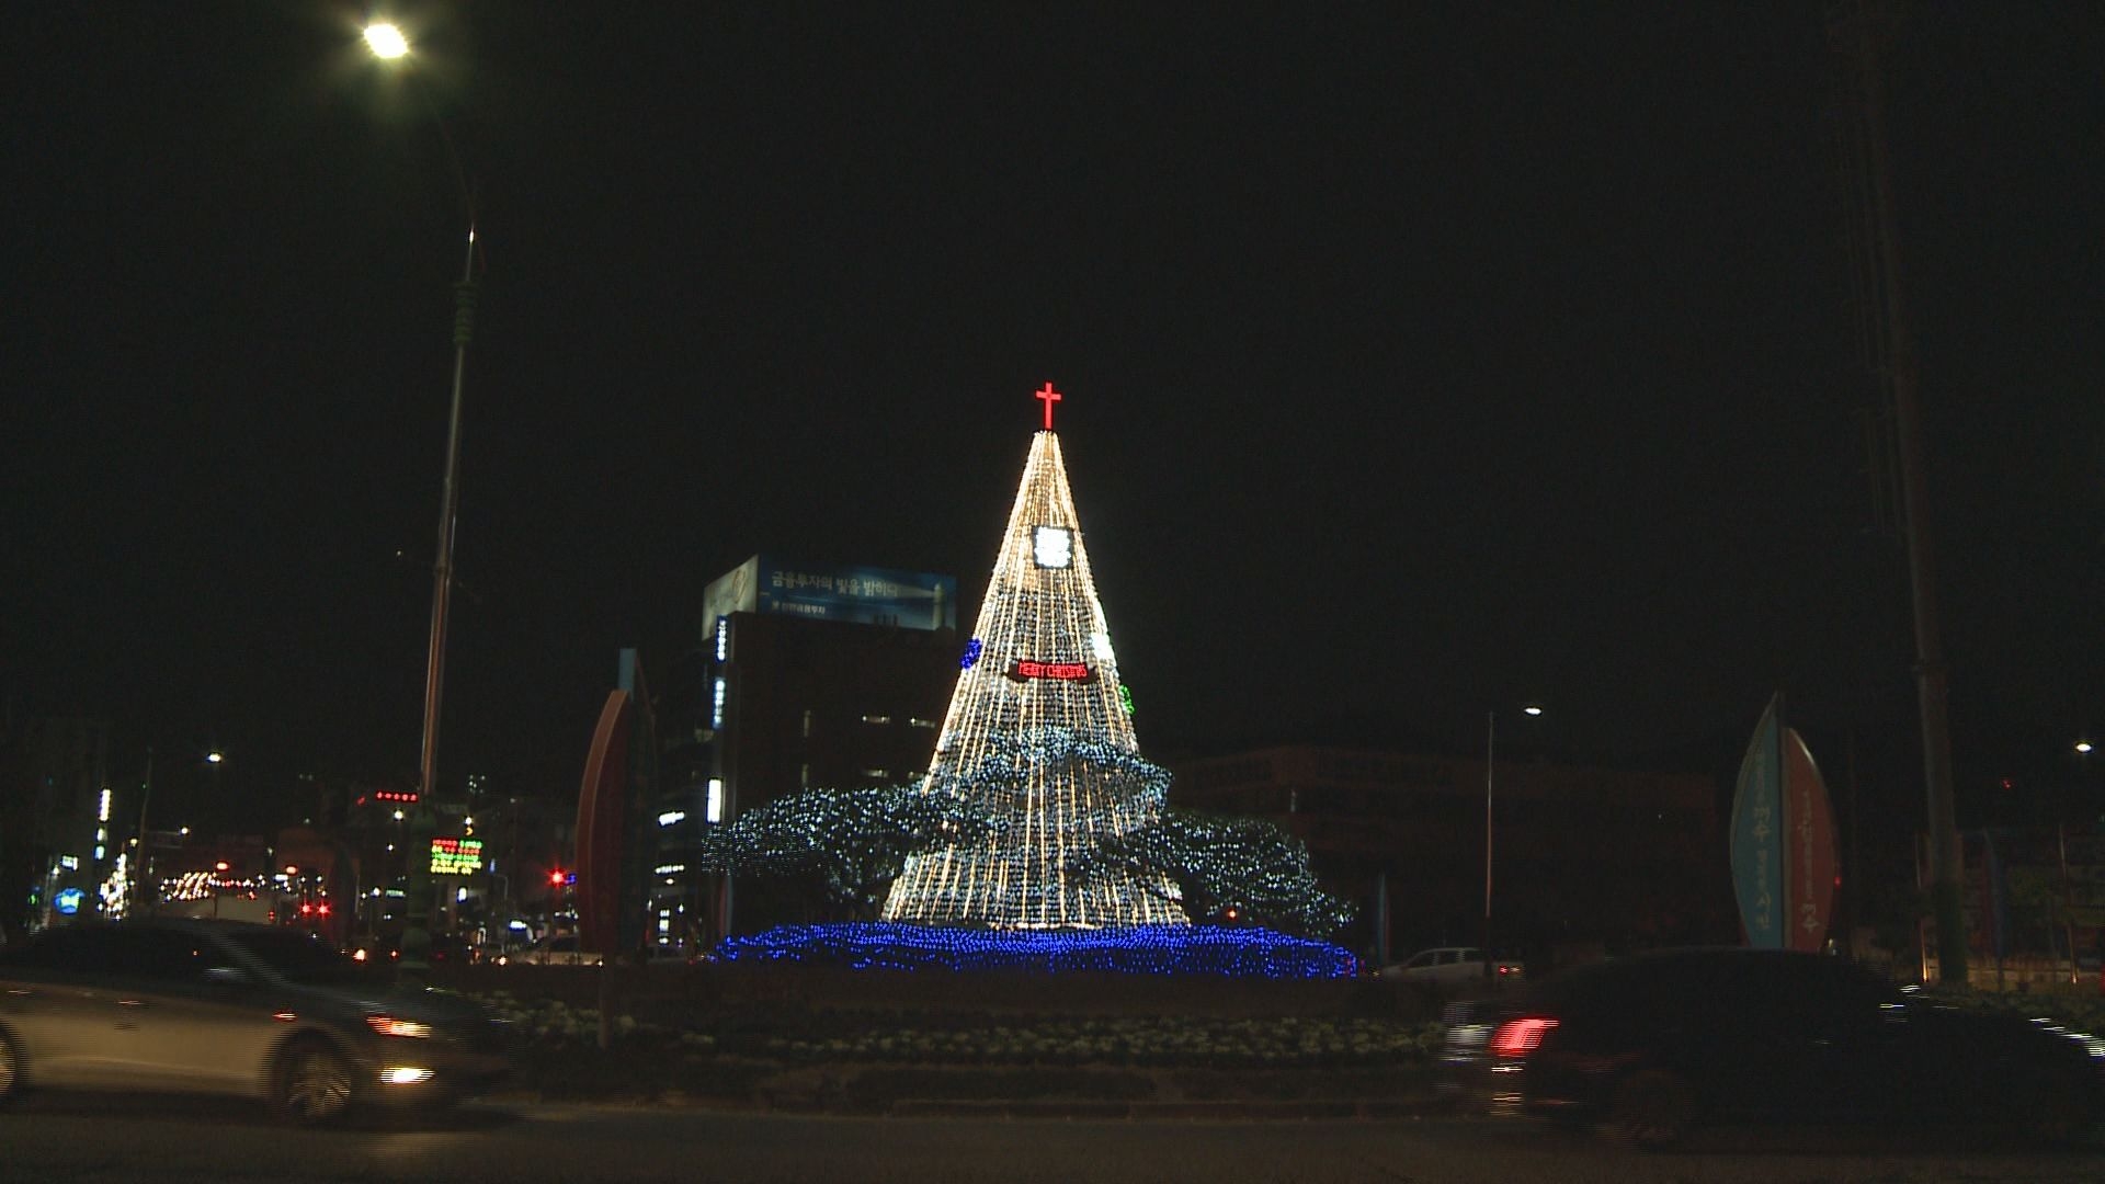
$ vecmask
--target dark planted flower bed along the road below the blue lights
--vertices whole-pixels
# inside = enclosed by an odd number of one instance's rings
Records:
[[[522,1037],[518,1087],[564,1100],[838,1104],[899,1098],[1387,1096],[1440,1024],[1383,1018],[1086,1018],[756,1007],[682,1024],[554,999],[482,996]],[[1400,1077],[1402,1074],[1402,1077]]]

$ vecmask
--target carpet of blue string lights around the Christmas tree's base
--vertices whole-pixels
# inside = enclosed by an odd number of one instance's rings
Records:
[[[779,925],[724,938],[724,961],[823,963],[850,969],[1156,973],[1217,978],[1351,978],[1341,946],[1274,929],[1130,925],[1116,929],[951,929],[941,925]]]

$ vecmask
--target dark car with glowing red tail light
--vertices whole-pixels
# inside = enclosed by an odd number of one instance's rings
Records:
[[[2105,1117],[2105,1041],[1960,1009],[1833,954],[1661,950],[1450,1003],[1438,1087],[1657,1148],[1713,1121],[1987,1121],[2067,1138]]]

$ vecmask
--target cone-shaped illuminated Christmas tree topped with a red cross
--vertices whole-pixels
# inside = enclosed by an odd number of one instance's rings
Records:
[[[1088,548],[1052,434],[1031,438],[926,794],[991,826],[907,860],[886,921],[996,929],[1185,925],[1168,876],[1084,864],[1154,822],[1166,777],[1139,756]]]

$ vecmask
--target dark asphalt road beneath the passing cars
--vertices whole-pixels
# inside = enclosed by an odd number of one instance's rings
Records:
[[[2105,1138],[1716,1131],[1642,1155],[1499,1119],[1132,1123],[467,1106],[299,1131],[246,1104],[34,1096],[0,1110],[0,1182],[1865,1182],[2105,1180]]]

